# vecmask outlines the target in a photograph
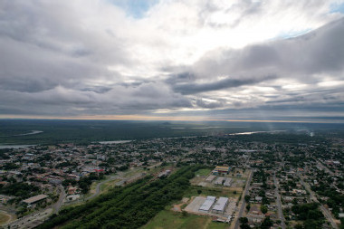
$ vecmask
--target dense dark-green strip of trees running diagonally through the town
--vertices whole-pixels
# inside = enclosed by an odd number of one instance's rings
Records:
[[[38,228],[138,228],[147,224],[166,205],[181,199],[189,179],[201,166],[182,167],[164,179],[143,178],[108,194],[60,212]]]

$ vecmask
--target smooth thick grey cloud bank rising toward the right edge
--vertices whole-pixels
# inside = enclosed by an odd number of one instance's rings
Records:
[[[241,50],[208,52],[192,73],[201,78],[236,75],[278,75],[310,81],[312,74],[341,72],[344,68],[344,19],[300,37],[260,43]]]

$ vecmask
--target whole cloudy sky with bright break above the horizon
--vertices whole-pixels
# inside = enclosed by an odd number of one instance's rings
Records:
[[[0,0],[0,118],[344,122],[344,1]]]

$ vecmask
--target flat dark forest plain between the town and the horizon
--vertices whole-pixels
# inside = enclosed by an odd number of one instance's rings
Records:
[[[0,120],[0,140],[2,144],[57,144],[57,143],[90,143],[92,141],[116,139],[143,139],[183,136],[204,136],[240,133],[248,131],[267,131],[273,129],[337,129],[342,124],[314,124],[314,123],[264,123],[264,122],[183,122],[183,121],[116,121],[116,120],[43,120],[43,119],[3,119]],[[42,133],[23,135],[32,130]],[[298,131],[297,131],[298,132]],[[259,136],[240,136],[248,141],[264,139],[268,142],[302,142],[311,137],[300,132],[297,138],[292,135],[268,134],[264,138]],[[303,135],[302,135],[303,134]],[[316,136],[317,136],[316,135]],[[236,137],[233,137],[236,138]]]

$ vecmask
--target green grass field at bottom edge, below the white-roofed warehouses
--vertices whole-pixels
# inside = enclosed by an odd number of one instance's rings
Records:
[[[212,222],[210,217],[200,215],[182,216],[181,213],[163,210],[142,229],[225,229],[228,224]]]

